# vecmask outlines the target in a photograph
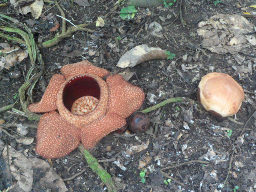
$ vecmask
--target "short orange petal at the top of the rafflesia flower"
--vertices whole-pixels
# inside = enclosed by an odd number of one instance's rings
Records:
[[[100,76],[101,78],[109,75],[109,72],[106,69],[96,67],[88,61],[81,61],[78,63],[65,65],[60,69],[60,71],[66,78],[87,73]]]

